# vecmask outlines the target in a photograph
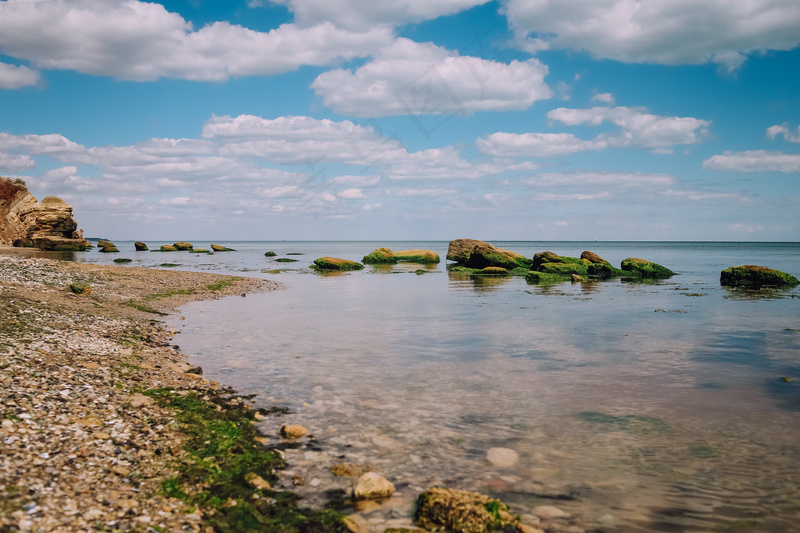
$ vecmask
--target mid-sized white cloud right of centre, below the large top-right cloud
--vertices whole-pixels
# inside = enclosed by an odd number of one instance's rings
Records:
[[[584,124],[599,126],[609,121],[621,128],[617,135],[601,136],[610,146],[657,148],[675,144],[698,144],[708,137],[711,123],[694,117],[664,117],[634,107],[592,107],[567,109],[559,107],[547,113],[551,120],[567,126]]]

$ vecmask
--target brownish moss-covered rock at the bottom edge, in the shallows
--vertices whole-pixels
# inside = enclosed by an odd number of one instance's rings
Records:
[[[477,492],[440,487],[419,495],[414,521],[430,531],[463,533],[486,533],[517,522],[500,500]]]

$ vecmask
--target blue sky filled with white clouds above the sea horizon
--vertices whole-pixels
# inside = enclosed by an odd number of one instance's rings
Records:
[[[0,176],[127,240],[800,241],[797,0],[0,0]]]

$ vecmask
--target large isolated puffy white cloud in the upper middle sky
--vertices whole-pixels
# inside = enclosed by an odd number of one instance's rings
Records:
[[[546,75],[547,66],[536,59],[498,63],[400,38],[355,72],[324,72],[311,86],[342,114],[467,115],[527,109],[550,98]]]

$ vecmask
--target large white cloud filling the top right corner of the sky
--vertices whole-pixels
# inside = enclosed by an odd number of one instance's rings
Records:
[[[568,48],[626,63],[731,70],[752,51],[800,44],[795,0],[505,0],[504,12],[534,53]]]

